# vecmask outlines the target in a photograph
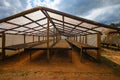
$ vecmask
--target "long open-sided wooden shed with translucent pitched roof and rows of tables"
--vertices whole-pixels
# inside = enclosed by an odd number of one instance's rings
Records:
[[[74,45],[81,55],[87,50],[97,51],[95,57],[99,59],[102,35],[108,31],[119,29],[39,6],[0,20],[1,57],[5,59],[7,50],[43,49],[49,60],[50,50],[72,50],[70,45]]]

